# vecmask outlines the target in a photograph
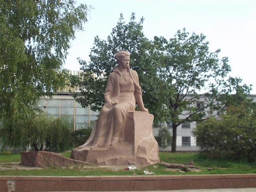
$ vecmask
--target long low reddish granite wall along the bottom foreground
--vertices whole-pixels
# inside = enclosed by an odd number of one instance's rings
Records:
[[[0,192],[167,191],[214,188],[256,188],[256,174],[78,176],[0,176]],[[245,189],[242,189],[245,190]]]

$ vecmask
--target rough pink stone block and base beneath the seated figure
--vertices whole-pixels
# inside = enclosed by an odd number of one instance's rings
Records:
[[[92,150],[74,149],[71,158],[96,165],[152,165],[160,162],[158,144],[152,132],[154,116],[146,112],[129,112],[126,140]]]

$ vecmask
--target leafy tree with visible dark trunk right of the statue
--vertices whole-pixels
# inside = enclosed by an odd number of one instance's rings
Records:
[[[154,38],[161,80],[161,97],[166,107],[167,122],[173,126],[172,152],[176,151],[177,127],[183,122],[202,121],[210,114],[225,110],[227,96],[237,88],[240,78],[228,78],[228,58],[218,58],[220,50],[209,52],[203,34],[189,35],[178,30],[174,38]],[[249,92],[247,85],[240,89]],[[220,97],[221,96],[221,97]]]

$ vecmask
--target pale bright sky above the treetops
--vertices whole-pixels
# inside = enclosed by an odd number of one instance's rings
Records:
[[[221,49],[219,59],[229,58],[232,77],[253,85],[256,94],[256,1],[255,0],[77,0],[91,5],[84,31],[71,41],[65,68],[79,70],[77,58],[89,61],[94,37],[107,40],[120,14],[126,22],[134,12],[136,21],[145,18],[143,33],[149,40],[167,40],[178,30],[203,33],[211,52]]]

